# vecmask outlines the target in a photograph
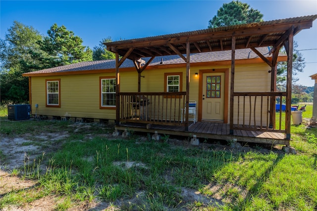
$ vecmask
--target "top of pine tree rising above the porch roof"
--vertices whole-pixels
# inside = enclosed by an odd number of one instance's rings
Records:
[[[224,3],[209,21],[208,28],[232,26],[263,21],[263,14],[257,9],[250,8],[250,5],[241,1]]]

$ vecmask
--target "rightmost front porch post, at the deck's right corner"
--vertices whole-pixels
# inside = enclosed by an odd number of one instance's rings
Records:
[[[293,27],[294,28],[294,27]],[[286,76],[286,113],[285,130],[286,140],[291,139],[291,100],[292,100],[292,70],[293,70],[293,31],[288,36],[288,57]]]

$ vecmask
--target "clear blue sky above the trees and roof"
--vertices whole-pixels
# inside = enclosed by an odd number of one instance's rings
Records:
[[[0,0],[0,37],[16,20],[47,35],[56,23],[93,48],[112,41],[206,29],[208,21],[231,0]],[[317,0],[242,0],[264,14],[264,21],[317,14]],[[299,84],[313,86],[317,73],[317,20],[294,37],[307,62]],[[312,49],[312,50],[306,50]]]

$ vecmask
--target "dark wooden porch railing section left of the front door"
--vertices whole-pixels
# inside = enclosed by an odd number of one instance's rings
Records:
[[[120,92],[120,122],[185,126],[186,92]],[[183,120],[183,121],[182,121]]]

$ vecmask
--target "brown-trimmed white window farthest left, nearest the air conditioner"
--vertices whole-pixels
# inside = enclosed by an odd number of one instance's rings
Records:
[[[46,80],[46,106],[60,107],[60,79]]]

